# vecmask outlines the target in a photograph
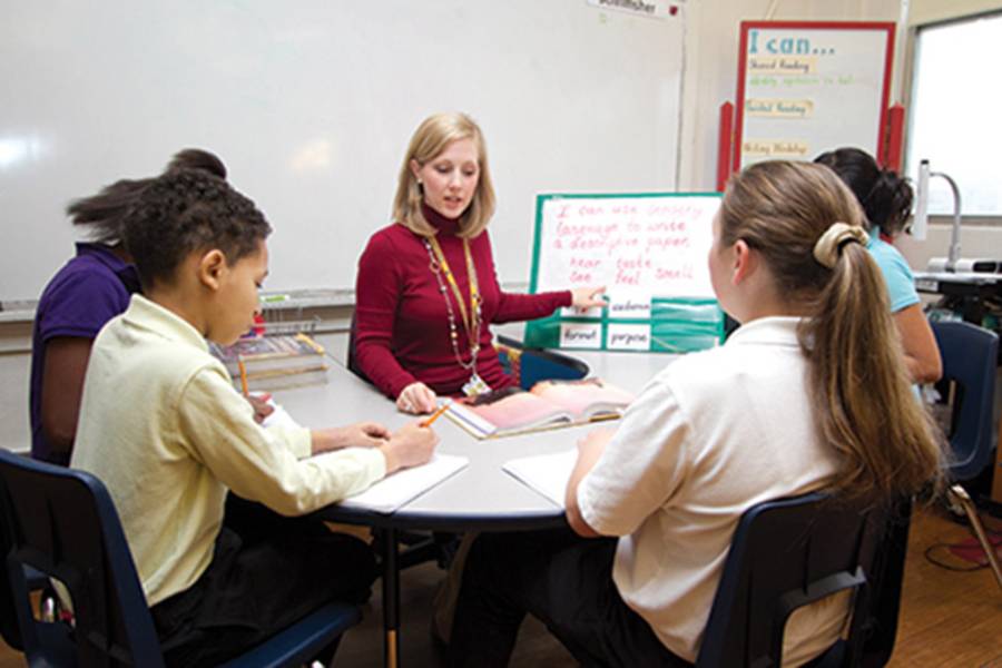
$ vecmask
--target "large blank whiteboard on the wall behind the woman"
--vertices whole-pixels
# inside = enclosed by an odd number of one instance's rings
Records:
[[[72,254],[63,209],[183,147],[265,212],[267,289],[354,286],[430,114],[487,137],[500,278],[529,274],[538,191],[672,189],[682,12],[584,0],[13,0],[0,22],[0,299]]]

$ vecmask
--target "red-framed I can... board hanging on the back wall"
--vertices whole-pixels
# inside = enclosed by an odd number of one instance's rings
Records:
[[[735,169],[843,146],[884,163],[894,23],[741,22]]]

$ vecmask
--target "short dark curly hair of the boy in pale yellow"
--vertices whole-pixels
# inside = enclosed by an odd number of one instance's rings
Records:
[[[248,198],[199,169],[153,179],[125,215],[126,249],[145,289],[170,282],[195,250],[218,248],[230,264],[254,253],[272,226]]]

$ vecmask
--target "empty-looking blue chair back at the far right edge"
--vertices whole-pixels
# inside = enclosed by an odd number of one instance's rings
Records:
[[[941,394],[949,397],[952,384],[950,477],[971,480],[991,461],[999,336],[964,322],[934,322],[932,330],[943,356]]]

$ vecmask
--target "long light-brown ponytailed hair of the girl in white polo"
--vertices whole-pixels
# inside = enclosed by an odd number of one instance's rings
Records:
[[[868,250],[844,235],[832,268],[814,249],[835,223],[865,225],[855,196],[827,167],[767,161],[727,186],[720,244],[758,252],[792,305],[809,314],[798,332],[821,438],[842,454],[831,487],[846,497],[914,493],[943,482],[943,440],[915,400]]]

